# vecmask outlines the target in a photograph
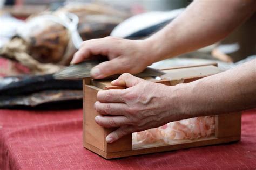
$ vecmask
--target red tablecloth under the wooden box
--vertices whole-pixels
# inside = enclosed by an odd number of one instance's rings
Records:
[[[82,110],[0,110],[0,169],[255,169],[256,110],[241,141],[105,160],[82,146]]]

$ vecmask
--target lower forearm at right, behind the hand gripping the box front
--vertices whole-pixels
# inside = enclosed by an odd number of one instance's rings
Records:
[[[226,72],[181,84],[180,118],[223,114],[256,107],[256,59]]]

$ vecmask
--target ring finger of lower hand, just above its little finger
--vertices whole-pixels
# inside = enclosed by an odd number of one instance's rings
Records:
[[[95,122],[106,128],[126,125],[129,120],[125,116],[96,116]]]

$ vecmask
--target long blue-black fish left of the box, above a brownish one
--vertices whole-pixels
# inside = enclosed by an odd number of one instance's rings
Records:
[[[43,90],[82,90],[81,80],[56,80],[52,74],[19,77],[6,86],[0,86],[0,97],[31,94]]]

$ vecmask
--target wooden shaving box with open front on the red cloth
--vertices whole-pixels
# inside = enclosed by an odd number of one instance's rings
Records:
[[[179,83],[192,82],[202,77],[221,72],[216,65],[177,67],[165,69],[163,71],[166,74],[160,76],[161,80],[156,80],[151,77],[146,78],[146,80],[174,86]],[[111,86],[110,81],[106,80],[83,80],[83,145],[85,148],[106,159],[228,143],[240,140],[241,114],[232,113],[215,116],[215,134],[208,138],[176,141],[176,143],[171,145],[134,149],[132,148],[132,134],[129,134],[114,143],[106,143],[105,138],[107,134],[112,132],[114,128],[103,128],[95,122],[95,117],[99,115],[99,113],[94,109],[94,103],[97,101],[96,95],[100,90],[123,88],[124,87]]]

